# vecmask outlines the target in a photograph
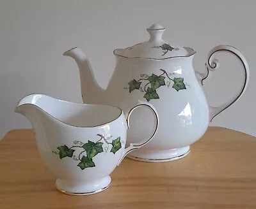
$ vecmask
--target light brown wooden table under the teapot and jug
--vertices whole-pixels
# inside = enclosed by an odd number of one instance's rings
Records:
[[[209,127],[184,159],[125,159],[109,189],[70,196],[56,190],[31,129],[13,130],[0,141],[0,208],[255,209],[255,161],[256,138]]]

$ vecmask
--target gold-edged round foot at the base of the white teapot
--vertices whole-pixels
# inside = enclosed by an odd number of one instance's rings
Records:
[[[134,150],[127,155],[128,158],[143,162],[168,162],[186,157],[190,147],[173,148],[170,150]]]

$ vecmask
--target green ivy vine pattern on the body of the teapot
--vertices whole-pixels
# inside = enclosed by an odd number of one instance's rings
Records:
[[[170,87],[171,83],[173,83],[172,88],[177,90],[185,90],[186,86],[189,86],[187,83],[184,83],[184,78],[171,78],[174,73],[167,73],[164,69],[159,69],[161,71],[161,75],[156,75],[152,73],[152,75],[148,76],[145,74],[141,75],[139,80],[131,80],[128,85],[129,87],[125,87],[124,89],[129,89],[131,93],[133,90],[140,90],[141,92],[145,92],[144,98],[147,101],[151,99],[159,99],[159,95],[157,94],[157,89],[161,86]],[[168,81],[166,81],[166,78]]]

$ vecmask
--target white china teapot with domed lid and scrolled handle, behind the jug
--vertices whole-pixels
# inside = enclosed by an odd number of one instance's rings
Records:
[[[190,146],[204,135],[212,119],[241,98],[248,85],[249,68],[239,50],[219,45],[207,56],[207,71],[199,73],[193,65],[193,48],[164,41],[165,28],[159,24],[151,25],[147,31],[147,41],[113,51],[116,66],[106,90],[97,84],[90,62],[80,48],[67,50],[63,55],[77,62],[83,103],[114,105],[127,111],[141,100],[156,108],[159,128],[154,139],[127,157],[144,162],[173,161],[188,155]],[[242,62],[244,82],[235,97],[214,107],[207,103],[202,85],[219,67],[219,61],[214,59],[218,52],[228,52]],[[132,117],[134,127],[127,132],[129,143],[150,134],[148,130],[154,126],[152,117],[147,110]]]

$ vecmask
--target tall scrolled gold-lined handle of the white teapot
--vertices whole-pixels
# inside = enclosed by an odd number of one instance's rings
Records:
[[[203,85],[204,80],[206,78],[208,78],[211,71],[214,71],[215,69],[218,69],[218,67],[220,65],[219,61],[217,59],[214,59],[214,55],[217,52],[229,52],[230,54],[236,55],[236,57],[243,64],[244,83],[243,83],[243,87],[241,87],[238,94],[236,96],[234,96],[232,99],[230,99],[230,101],[228,101],[227,103],[224,103],[223,105],[216,106],[216,107],[213,107],[213,106],[209,105],[209,120],[210,120],[210,122],[212,121],[212,119],[214,119],[214,117],[216,117],[221,112],[223,112],[224,110],[229,108],[231,105],[236,103],[236,101],[243,95],[244,91],[246,90],[246,88],[248,86],[249,76],[250,76],[248,63],[247,63],[244,55],[241,52],[239,52],[239,50],[237,50],[237,48],[231,47],[229,45],[219,45],[217,47],[212,48],[212,50],[208,54],[207,63],[205,63],[206,68],[207,68],[207,75],[205,75],[205,77],[201,79],[201,84],[202,85]]]

